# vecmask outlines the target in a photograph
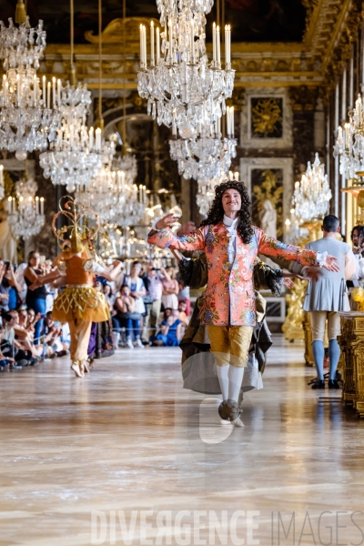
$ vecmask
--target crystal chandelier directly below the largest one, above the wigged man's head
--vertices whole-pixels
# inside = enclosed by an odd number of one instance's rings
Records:
[[[236,157],[237,140],[234,138],[233,107],[227,107],[227,137],[222,138],[220,120],[215,126],[199,126],[197,136],[169,141],[170,156],[177,161],[178,172],[184,178],[210,180],[227,174],[232,157]],[[175,134],[176,135],[176,134]]]

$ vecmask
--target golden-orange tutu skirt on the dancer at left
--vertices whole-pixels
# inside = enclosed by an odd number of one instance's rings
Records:
[[[95,288],[67,287],[56,298],[52,319],[59,322],[75,319],[104,322],[110,319],[110,311],[104,294]]]

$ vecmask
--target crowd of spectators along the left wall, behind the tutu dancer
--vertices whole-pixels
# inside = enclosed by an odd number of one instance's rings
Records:
[[[59,281],[44,282],[52,262],[31,252],[19,267],[0,258],[0,370],[34,366],[40,360],[66,356],[68,325],[52,320]],[[56,277],[56,276],[55,276]],[[176,346],[183,337],[190,309],[188,288],[178,284],[176,270],[132,264],[116,280],[96,278],[96,288],[107,300],[111,319],[97,325],[101,348],[89,351],[90,359],[110,350]],[[104,327],[104,328],[103,328]],[[91,343],[90,343],[91,346]]]

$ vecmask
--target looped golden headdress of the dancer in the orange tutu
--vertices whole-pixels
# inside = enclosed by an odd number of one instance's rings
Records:
[[[65,216],[70,221],[69,226],[63,226],[59,229],[56,228],[57,218]],[[96,226],[88,227],[86,222],[91,217],[95,217]],[[55,214],[52,222],[52,229],[56,238],[58,239],[58,245],[62,248],[62,243],[66,240],[67,233],[70,234],[69,239],[71,241],[72,252],[82,252],[90,244],[92,245],[93,239],[96,238],[97,232],[100,228],[100,221],[98,214],[92,208],[81,207],[78,211],[76,208],[76,202],[73,197],[64,196],[59,200],[59,212]]]

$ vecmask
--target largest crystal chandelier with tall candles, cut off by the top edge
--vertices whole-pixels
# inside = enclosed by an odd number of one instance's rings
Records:
[[[204,9],[209,11],[211,5],[207,0],[158,2],[164,30],[157,28],[155,35],[152,21],[149,65],[146,27],[140,25],[139,95],[147,99],[148,115],[157,117],[159,125],[177,127],[182,138],[192,137],[198,124],[215,124],[225,114],[225,101],[233,91],[229,25],[225,27],[225,69],[220,29],[215,24],[212,62],[207,58]]]

